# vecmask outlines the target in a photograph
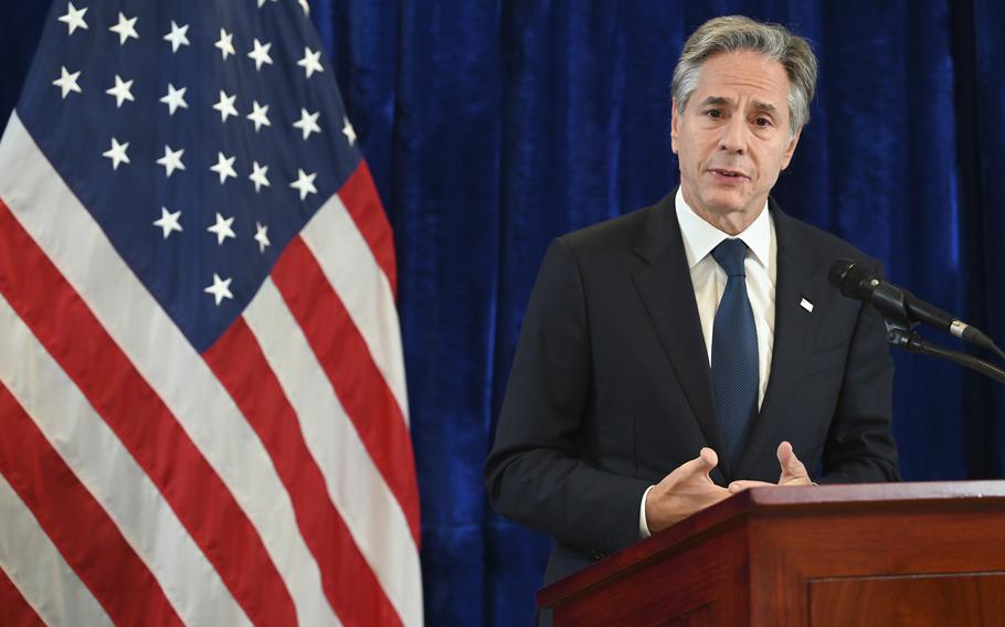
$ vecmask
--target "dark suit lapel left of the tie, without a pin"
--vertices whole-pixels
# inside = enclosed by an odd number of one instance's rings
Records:
[[[705,440],[716,451],[723,450],[716,422],[708,352],[701,333],[695,288],[684,253],[684,241],[670,194],[654,206],[647,217],[635,252],[647,264],[633,273],[632,280],[646,308],[656,337],[669,359],[698,421]],[[697,455],[698,451],[695,451]],[[726,456],[720,456],[723,468]],[[728,468],[726,468],[728,476]],[[716,468],[713,479],[723,482]]]

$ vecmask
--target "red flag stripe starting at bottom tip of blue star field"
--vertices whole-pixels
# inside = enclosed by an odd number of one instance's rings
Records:
[[[296,412],[244,319],[237,318],[203,357],[268,450],[339,619],[347,625],[400,625],[335,509]]]

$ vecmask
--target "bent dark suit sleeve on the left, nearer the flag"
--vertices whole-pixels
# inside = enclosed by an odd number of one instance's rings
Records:
[[[485,480],[498,512],[597,556],[638,539],[648,483],[580,458],[591,372],[582,277],[556,240],[531,293]]]

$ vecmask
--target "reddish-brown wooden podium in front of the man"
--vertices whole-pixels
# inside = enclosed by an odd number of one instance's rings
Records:
[[[538,593],[562,625],[1005,625],[1005,481],[758,488]]]

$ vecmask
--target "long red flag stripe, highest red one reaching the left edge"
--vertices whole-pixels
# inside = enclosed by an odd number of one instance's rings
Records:
[[[248,618],[294,624],[293,598],[244,511],[3,202],[0,291],[150,477]]]

